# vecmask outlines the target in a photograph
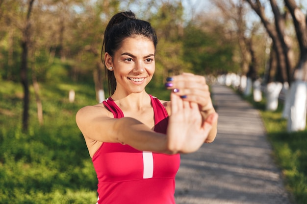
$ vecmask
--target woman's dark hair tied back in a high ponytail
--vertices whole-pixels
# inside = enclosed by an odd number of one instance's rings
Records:
[[[123,40],[136,35],[141,35],[150,39],[153,41],[154,48],[156,48],[158,43],[157,36],[149,22],[136,19],[132,11],[124,11],[115,14],[107,24],[104,31],[102,43],[102,62],[104,59],[103,52],[108,52],[109,55],[114,56],[115,51],[120,48]],[[108,70],[107,68],[106,70],[108,76],[109,94],[112,95],[116,89],[116,80],[114,72]]]

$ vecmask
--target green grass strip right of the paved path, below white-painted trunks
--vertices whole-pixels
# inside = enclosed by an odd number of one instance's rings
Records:
[[[287,133],[287,120],[282,119],[282,101],[275,112],[265,111],[265,99],[254,102],[244,97],[259,109],[267,137],[273,147],[273,156],[281,168],[286,188],[297,204],[307,204],[307,129]]]

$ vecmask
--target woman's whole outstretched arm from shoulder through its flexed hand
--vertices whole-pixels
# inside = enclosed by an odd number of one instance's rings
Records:
[[[76,115],[77,125],[87,144],[97,141],[128,144],[140,151],[165,154],[197,151],[217,120],[216,115],[203,120],[197,103],[183,101],[171,93],[171,112],[167,134],[156,133],[142,122],[131,118],[112,118],[102,106],[87,106]],[[88,145],[90,154],[98,149]]]

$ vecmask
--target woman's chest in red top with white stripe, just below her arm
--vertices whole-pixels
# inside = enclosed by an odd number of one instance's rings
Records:
[[[104,143],[101,154],[94,166],[99,169],[102,182],[175,178],[180,165],[179,154],[138,151],[118,143]]]

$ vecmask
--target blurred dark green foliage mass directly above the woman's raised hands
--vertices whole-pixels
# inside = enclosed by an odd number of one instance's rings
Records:
[[[207,32],[193,24],[185,28],[183,59],[193,65],[195,73],[216,75],[239,70],[239,65],[232,60],[234,43],[224,39],[222,27],[217,26],[215,29],[215,32]]]

